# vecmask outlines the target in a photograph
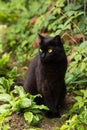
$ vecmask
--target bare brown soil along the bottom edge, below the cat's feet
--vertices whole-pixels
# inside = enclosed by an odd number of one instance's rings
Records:
[[[10,130],[29,130],[30,128],[39,128],[41,130],[54,130],[55,128],[60,127],[64,123],[64,118],[53,118],[49,119],[44,117],[43,120],[36,127],[29,126],[22,114],[13,114],[10,124]]]

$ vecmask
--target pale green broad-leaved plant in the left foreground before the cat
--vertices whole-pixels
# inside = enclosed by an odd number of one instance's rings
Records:
[[[21,109],[24,111],[24,118],[29,124],[38,124],[42,118],[41,110],[48,110],[46,106],[37,105],[34,102],[35,98],[41,97],[41,95],[32,96],[29,93],[25,93],[21,86],[15,86],[13,91],[8,91],[7,93],[6,87],[10,88],[9,80],[0,78],[0,81],[0,101],[2,102],[2,105],[0,105],[1,125],[3,125],[5,117],[9,117],[13,112],[20,111]]]

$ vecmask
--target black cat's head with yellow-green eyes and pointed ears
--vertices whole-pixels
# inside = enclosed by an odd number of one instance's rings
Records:
[[[59,35],[55,37],[44,37],[39,35],[39,55],[44,63],[61,60],[64,56],[63,44]]]

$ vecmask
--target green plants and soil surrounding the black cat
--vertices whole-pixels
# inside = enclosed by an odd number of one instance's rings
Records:
[[[0,1],[1,130],[87,129],[86,5],[86,0]],[[69,65],[61,118],[47,119],[42,114],[47,107],[36,105],[35,97],[26,94],[23,88],[9,91],[13,82],[24,80],[27,65],[38,53],[38,33],[60,34],[64,42]]]

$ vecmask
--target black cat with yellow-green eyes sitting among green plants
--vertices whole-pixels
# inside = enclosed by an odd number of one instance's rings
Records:
[[[42,95],[43,103],[49,108],[47,116],[58,116],[58,107],[66,94],[67,58],[59,35],[39,37],[39,54],[29,65],[24,89],[33,95]]]

